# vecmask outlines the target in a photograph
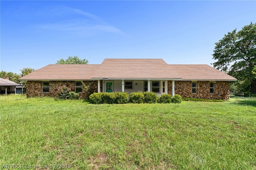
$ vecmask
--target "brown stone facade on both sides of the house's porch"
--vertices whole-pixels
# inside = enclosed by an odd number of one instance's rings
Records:
[[[42,81],[27,81],[27,97],[50,96],[57,97],[58,89],[66,86],[75,91],[75,81],[49,81],[50,92],[42,92]],[[192,82],[196,82],[196,93],[192,93]],[[214,93],[210,93],[210,82],[214,82]],[[83,81],[84,85],[91,85],[92,92],[98,92],[98,81]],[[92,84],[91,84],[92,83]],[[174,93],[183,98],[198,99],[229,99],[229,81],[175,81]],[[102,81],[100,81],[100,91],[102,91]],[[172,81],[168,81],[168,94],[172,94]],[[86,98],[86,89],[80,93],[80,98]]]

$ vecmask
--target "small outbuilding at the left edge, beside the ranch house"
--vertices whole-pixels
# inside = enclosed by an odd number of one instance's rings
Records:
[[[15,93],[15,94],[22,94],[22,85],[15,83],[13,81],[9,80],[9,77],[6,76],[3,78],[0,78],[0,94],[11,94],[11,93]]]

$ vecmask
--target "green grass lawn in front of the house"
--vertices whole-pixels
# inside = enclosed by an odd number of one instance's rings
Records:
[[[0,169],[256,170],[256,99],[92,105],[10,95],[0,115]]]

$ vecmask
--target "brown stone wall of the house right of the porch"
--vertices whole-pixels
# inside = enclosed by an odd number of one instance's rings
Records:
[[[210,82],[196,81],[197,93],[192,93],[192,81],[175,81],[174,94],[183,98],[229,99],[229,81],[215,81],[214,93],[210,93]],[[172,81],[168,81],[168,94],[172,94]]]

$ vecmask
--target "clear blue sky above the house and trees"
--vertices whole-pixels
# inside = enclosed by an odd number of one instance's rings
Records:
[[[208,64],[224,34],[256,22],[256,1],[0,1],[0,70],[61,58]]]

